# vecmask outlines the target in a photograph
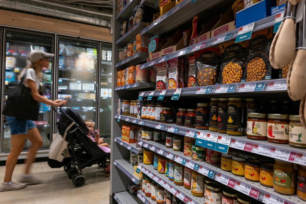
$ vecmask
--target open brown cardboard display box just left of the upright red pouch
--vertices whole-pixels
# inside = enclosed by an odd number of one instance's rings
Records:
[[[162,55],[170,54],[187,47],[190,41],[191,32],[192,28],[184,32],[178,30],[172,38],[168,38],[168,42],[162,48]]]

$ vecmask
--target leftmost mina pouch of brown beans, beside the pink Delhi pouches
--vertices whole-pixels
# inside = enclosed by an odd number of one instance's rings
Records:
[[[220,67],[218,47],[207,48],[195,53],[196,86],[214,85]]]

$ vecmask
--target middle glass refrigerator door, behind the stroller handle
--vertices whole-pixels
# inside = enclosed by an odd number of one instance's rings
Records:
[[[84,121],[96,121],[97,42],[59,37],[58,98]]]

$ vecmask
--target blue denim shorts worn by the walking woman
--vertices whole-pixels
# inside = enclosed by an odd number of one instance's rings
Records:
[[[36,128],[35,123],[29,120],[6,116],[6,121],[9,123],[11,135],[28,134],[28,130]]]

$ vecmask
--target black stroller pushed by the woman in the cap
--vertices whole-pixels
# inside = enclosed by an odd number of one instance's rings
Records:
[[[64,166],[69,179],[72,179],[75,187],[81,187],[85,183],[82,169],[98,164],[106,168],[110,162],[110,154],[101,150],[96,143],[92,142],[86,135],[88,128],[83,119],[70,107],[62,107],[58,110],[58,130],[60,135],[64,135],[67,128],[66,141],[69,146],[69,158],[65,158],[61,164],[54,164],[50,160],[48,164],[51,168]],[[69,127],[72,123],[75,123]]]

